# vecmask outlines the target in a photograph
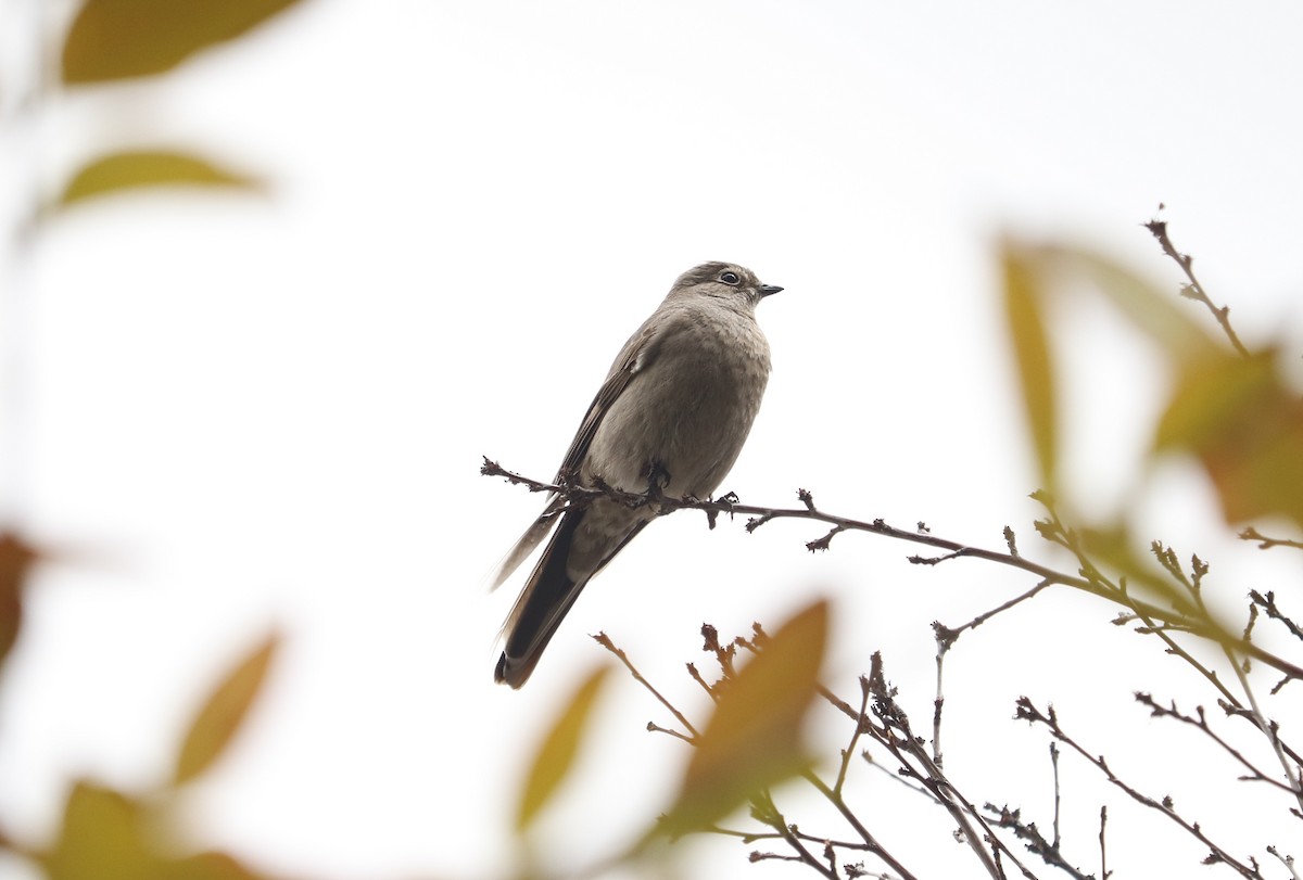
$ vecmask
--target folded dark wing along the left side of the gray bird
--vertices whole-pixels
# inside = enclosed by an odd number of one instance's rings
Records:
[[[659,348],[657,345],[659,336],[659,331],[652,325],[652,322],[648,322],[620,349],[620,354],[616,355],[615,363],[611,364],[611,371],[607,374],[606,381],[602,383],[597,397],[589,404],[588,413],[584,415],[575,439],[571,440],[569,449],[566,450],[566,458],[562,460],[560,470],[556,471],[555,482],[558,484],[564,479],[575,479],[579,475],[580,466],[584,463],[584,457],[588,456],[588,448],[593,443],[593,435],[597,433],[598,426],[602,424],[602,419],[611,410],[611,405],[629,387],[633,376],[645,370],[653,361]],[[547,538],[552,526],[556,525],[558,516],[564,509],[566,502],[555,495],[549,499],[543,513],[530,523],[525,534],[520,536],[520,540],[516,542],[502,562],[498,564],[491,586],[489,587],[490,590],[500,587],[511,577],[512,571],[520,568],[520,564]]]

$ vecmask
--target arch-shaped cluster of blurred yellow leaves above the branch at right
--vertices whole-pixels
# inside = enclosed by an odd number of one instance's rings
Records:
[[[1192,454],[1227,522],[1278,514],[1303,525],[1303,400],[1276,350],[1238,354],[1173,293],[1084,249],[1010,243],[1003,264],[1018,375],[1044,471],[1053,473],[1055,435],[1053,346],[1041,316],[1057,297],[1089,289],[1156,344],[1177,378],[1153,452]]]

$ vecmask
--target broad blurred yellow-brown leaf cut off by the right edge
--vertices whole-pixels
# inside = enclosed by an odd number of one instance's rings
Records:
[[[1190,364],[1154,448],[1199,457],[1227,522],[1283,514],[1303,526],[1303,398],[1281,378],[1274,350]]]

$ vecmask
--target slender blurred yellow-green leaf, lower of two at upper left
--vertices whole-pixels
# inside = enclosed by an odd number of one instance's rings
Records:
[[[68,207],[85,199],[141,186],[257,187],[251,177],[219,168],[206,159],[180,152],[130,151],[100,156],[83,165],[56,199]]]

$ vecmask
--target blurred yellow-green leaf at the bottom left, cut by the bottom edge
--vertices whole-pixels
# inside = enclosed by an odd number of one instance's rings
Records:
[[[50,880],[138,880],[160,876],[141,840],[141,807],[117,791],[81,781],[68,795],[64,824],[44,855]]]

